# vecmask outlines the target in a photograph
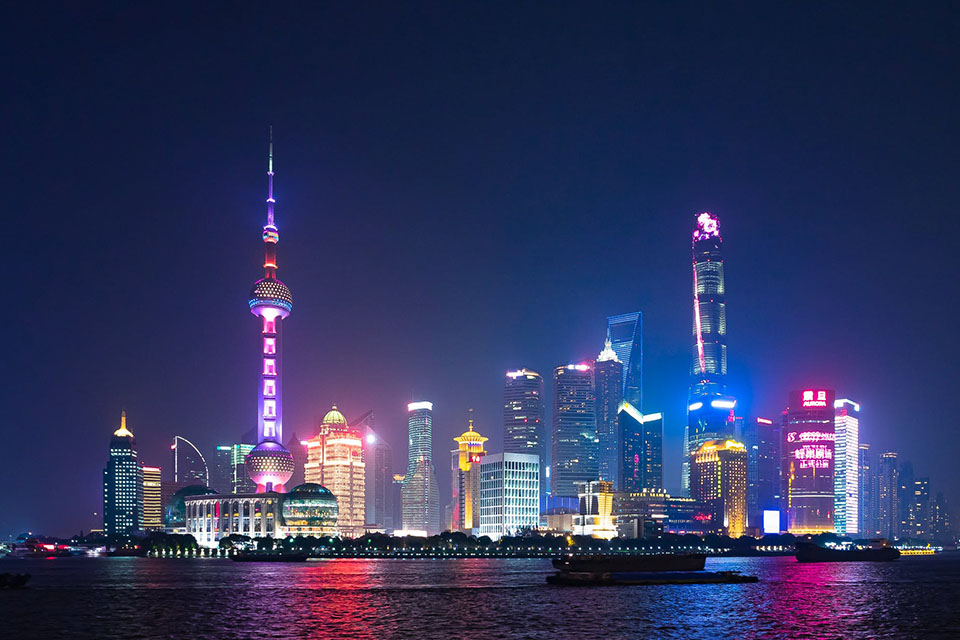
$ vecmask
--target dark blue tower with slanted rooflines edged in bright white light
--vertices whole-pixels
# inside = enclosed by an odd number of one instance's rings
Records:
[[[626,400],[617,412],[621,491],[663,489],[663,414],[644,415]]]

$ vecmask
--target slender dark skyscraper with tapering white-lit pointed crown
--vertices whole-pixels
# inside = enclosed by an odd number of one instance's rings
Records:
[[[607,338],[594,365],[597,409],[597,466],[601,480],[620,486],[619,410],[623,401],[623,363]]]

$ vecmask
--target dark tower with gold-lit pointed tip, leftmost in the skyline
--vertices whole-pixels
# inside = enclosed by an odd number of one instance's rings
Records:
[[[120,413],[120,428],[110,438],[110,457],[103,470],[103,531],[133,533],[140,526],[143,485],[137,464],[136,441],[127,429],[127,412]]]

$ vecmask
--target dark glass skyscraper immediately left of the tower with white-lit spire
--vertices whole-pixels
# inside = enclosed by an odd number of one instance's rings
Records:
[[[577,483],[596,480],[597,414],[593,366],[568,364],[553,372],[553,496],[576,497]]]

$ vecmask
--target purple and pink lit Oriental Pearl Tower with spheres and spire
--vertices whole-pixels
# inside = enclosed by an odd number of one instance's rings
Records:
[[[263,226],[264,276],[250,291],[250,312],[260,318],[260,381],[257,390],[257,446],[247,454],[247,475],[257,484],[257,493],[284,492],[293,475],[293,455],[284,447],[283,411],[280,396],[280,327],[293,311],[287,285],[277,279],[277,242],[280,235],[273,221],[273,127],[267,164],[267,224]]]

